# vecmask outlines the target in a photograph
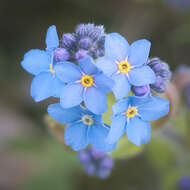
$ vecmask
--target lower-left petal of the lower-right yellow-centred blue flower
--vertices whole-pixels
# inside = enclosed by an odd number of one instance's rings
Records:
[[[115,116],[112,119],[111,129],[106,141],[109,144],[117,142],[125,132],[126,117],[124,115]]]

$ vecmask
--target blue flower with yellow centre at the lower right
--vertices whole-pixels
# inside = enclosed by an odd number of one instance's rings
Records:
[[[169,101],[151,95],[144,98],[129,96],[113,105],[113,120],[107,137],[108,143],[117,142],[126,132],[129,141],[146,144],[150,140],[149,121],[157,120],[169,112]]]

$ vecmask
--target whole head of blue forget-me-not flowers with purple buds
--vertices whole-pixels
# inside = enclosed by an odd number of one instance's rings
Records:
[[[145,39],[129,45],[120,34],[105,34],[102,26],[93,24],[78,25],[59,41],[56,27],[51,26],[46,50],[30,50],[21,65],[34,75],[31,96],[36,102],[59,98],[48,113],[66,125],[68,146],[79,151],[91,144],[109,152],[124,133],[132,143],[146,144],[149,121],[169,112],[169,102],[150,91],[151,87],[163,92],[169,75],[159,59],[148,61],[150,46]],[[131,90],[135,95],[127,97]],[[117,100],[111,126],[102,121],[108,92]]]

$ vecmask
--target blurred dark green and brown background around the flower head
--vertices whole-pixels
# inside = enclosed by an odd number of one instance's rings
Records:
[[[182,88],[170,93],[177,114],[157,125],[143,151],[116,160],[106,180],[86,176],[76,153],[51,135],[43,119],[50,100],[34,103],[32,76],[20,62],[26,51],[45,48],[50,25],[61,37],[89,22],[129,42],[149,39],[150,55],[168,62],[172,71],[190,66],[188,0],[0,0],[0,190],[175,190],[180,177],[190,174],[189,111]]]

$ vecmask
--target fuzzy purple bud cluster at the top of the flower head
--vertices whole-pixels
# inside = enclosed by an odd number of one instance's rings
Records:
[[[104,55],[105,33],[103,26],[79,24],[74,33],[63,34],[62,48],[69,52],[69,59],[77,61],[86,55],[96,59]]]

